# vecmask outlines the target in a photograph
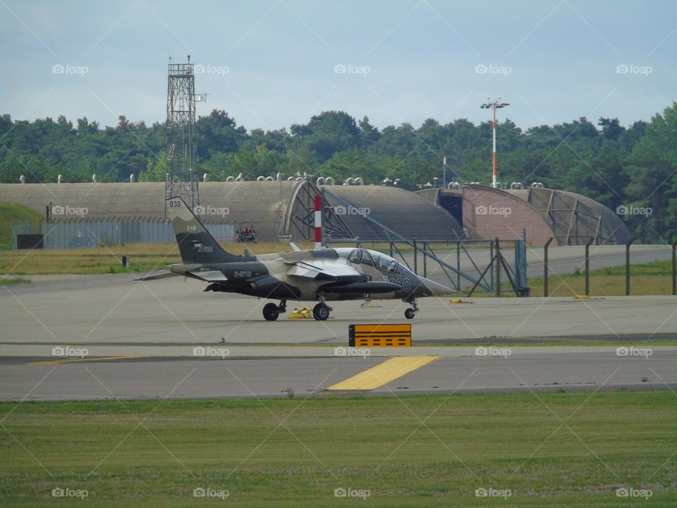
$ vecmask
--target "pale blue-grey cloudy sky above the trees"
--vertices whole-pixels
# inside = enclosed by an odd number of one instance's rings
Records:
[[[166,64],[199,114],[276,129],[340,109],[379,128],[587,116],[649,120],[677,97],[677,1],[0,0],[0,113],[163,121]]]

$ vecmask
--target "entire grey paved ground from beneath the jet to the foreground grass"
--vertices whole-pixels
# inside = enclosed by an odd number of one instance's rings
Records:
[[[391,357],[413,355],[439,358],[401,375],[379,367],[391,380],[366,392],[674,389],[677,383],[677,345],[669,344],[677,337],[673,296],[422,299],[412,321],[415,347],[345,356],[335,348],[347,345],[348,325],[406,322],[406,304],[333,303],[326,322],[284,315],[266,322],[265,301],[203,293],[204,284],[178,278],[132,279],[43,277],[0,289],[0,399],[333,396],[344,392],[327,387]],[[513,345],[549,341],[575,345]],[[585,341],[595,345],[581,346]],[[476,349],[488,344],[496,348]],[[618,353],[619,344],[630,353]]]

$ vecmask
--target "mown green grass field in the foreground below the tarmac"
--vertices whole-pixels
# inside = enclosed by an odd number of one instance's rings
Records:
[[[662,391],[4,403],[0,503],[674,507],[675,408]]]

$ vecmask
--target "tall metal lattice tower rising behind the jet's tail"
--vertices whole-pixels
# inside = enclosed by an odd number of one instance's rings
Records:
[[[195,95],[193,63],[172,63],[167,77],[167,174],[165,198],[181,196],[193,210],[200,205],[195,171],[195,103],[207,98]],[[165,219],[169,210],[165,202]]]

